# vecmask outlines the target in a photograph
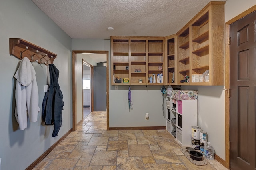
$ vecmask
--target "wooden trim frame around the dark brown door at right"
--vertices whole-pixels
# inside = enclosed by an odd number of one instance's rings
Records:
[[[220,163],[226,168],[230,168],[230,25],[255,10],[256,5],[225,23],[225,161]]]

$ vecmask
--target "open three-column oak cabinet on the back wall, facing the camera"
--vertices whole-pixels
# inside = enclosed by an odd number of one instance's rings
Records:
[[[112,85],[163,85],[149,83],[150,76],[164,74],[164,37],[110,36]],[[115,78],[122,78],[115,82]],[[129,82],[124,83],[123,79]],[[142,81],[142,83],[141,83]]]

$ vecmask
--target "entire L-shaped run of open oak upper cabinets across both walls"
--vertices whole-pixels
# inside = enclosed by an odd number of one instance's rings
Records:
[[[224,4],[210,2],[174,35],[110,36],[111,84],[224,85]],[[207,82],[193,80],[206,71]],[[149,83],[154,74],[156,83]],[[157,74],[163,75],[162,83],[157,83]],[[121,82],[114,82],[114,77],[122,78]],[[124,78],[129,82],[123,83]]]

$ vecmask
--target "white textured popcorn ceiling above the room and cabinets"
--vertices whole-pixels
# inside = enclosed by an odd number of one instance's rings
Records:
[[[219,0],[226,1],[226,0]],[[32,0],[71,38],[176,34],[210,0]],[[108,31],[113,27],[114,31]]]

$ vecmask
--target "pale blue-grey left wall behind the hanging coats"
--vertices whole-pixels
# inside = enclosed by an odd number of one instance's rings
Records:
[[[0,0],[0,158],[2,170],[24,170],[72,128],[71,38],[30,0]],[[41,112],[38,122],[18,129],[14,118],[14,74],[20,60],[9,55],[9,38],[22,38],[58,54],[54,60],[60,71],[59,84],[64,96],[63,126],[52,138],[53,126],[44,126]],[[33,62],[42,110],[46,68]]]

